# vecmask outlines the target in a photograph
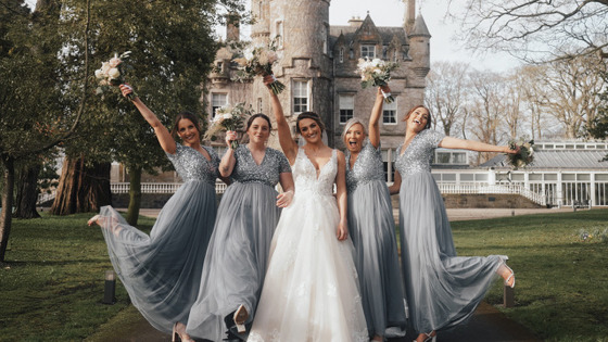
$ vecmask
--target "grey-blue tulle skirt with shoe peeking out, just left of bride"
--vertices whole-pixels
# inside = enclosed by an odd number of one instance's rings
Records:
[[[224,193],[188,320],[192,337],[221,341],[228,329],[224,318],[241,304],[248,322],[253,319],[281,212],[276,197],[275,189],[257,182],[236,182]]]

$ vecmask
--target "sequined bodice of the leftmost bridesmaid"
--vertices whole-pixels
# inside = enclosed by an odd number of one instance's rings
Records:
[[[176,144],[175,154],[167,153],[167,157],[173,163],[175,170],[185,182],[202,180],[215,185],[215,180],[219,176],[217,172],[219,157],[212,148],[203,148],[211,156],[211,161],[207,161],[201,152],[179,143]]]

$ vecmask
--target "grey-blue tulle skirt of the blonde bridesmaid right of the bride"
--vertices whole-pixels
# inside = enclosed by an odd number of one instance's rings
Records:
[[[391,197],[384,181],[349,193],[349,231],[355,245],[363,308],[370,337],[402,328],[406,318]]]

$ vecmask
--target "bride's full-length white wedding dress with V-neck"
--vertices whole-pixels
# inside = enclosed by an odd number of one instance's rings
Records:
[[[283,208],[248,341],[369,341],[351,239],[339,241],[335,150],[317,170],[299,149],[295,195]]]

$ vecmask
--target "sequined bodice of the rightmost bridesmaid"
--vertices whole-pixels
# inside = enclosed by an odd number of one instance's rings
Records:
[[[397,149],[395,168],[402,177],[431,172],[433,152],[445,136],[439,131],[425,129],[419,132],[402,154],[403,145]]]

